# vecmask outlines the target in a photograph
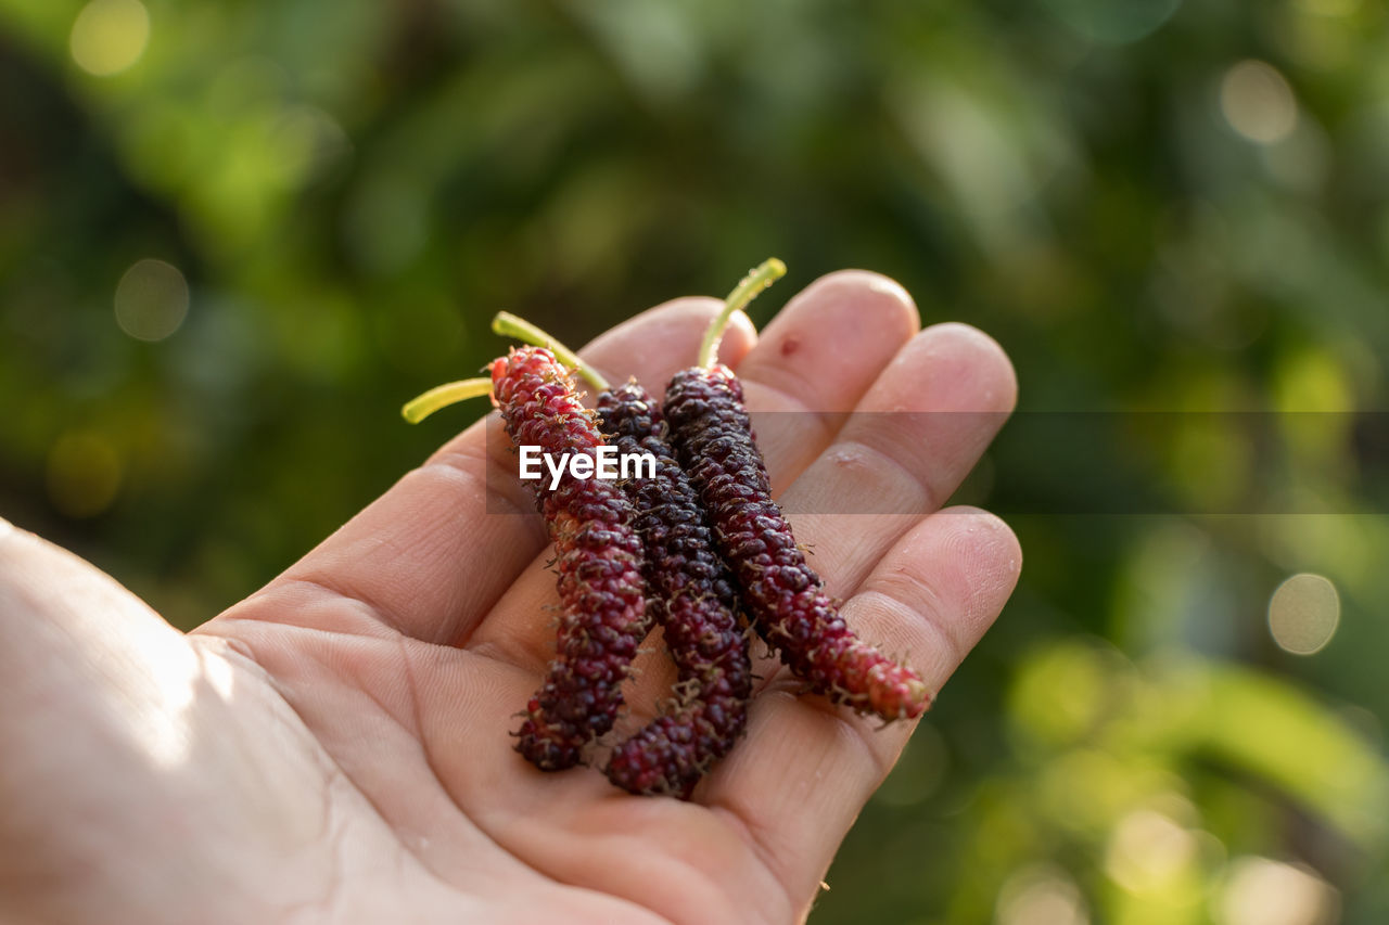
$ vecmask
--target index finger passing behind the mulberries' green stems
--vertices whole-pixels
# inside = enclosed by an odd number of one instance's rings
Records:
[[[664,382],[693,361],[718,310],[711,299],[675,300],[579,353],[613,379]],[[754,340],[739,315],[720,356],[736,364]],[[500,421],[488,415],[222,618],[461,639],[544,546],[533,510]]]

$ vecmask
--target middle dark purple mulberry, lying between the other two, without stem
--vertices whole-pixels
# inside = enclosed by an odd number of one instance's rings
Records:
[[[629,479],[636,529],[646,543],[653,611],[679,671],[681,697],[613,751],[608,779],[632,793],[689,799],[700,776],[747,726],[751,660],[738,597],[714,551],[699,492],[675,461],[660,406],[636,382],[603,392],[599,418],[621,453],[650,453],[656,478]]]

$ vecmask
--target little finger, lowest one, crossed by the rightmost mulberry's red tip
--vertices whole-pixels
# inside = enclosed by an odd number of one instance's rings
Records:
[[[843,614],[885,651],[908,653],[939,690],[1003,608],[1021,561],[1017,539],[996,517],[939,511],[892,547]],[[753,703],[747,739],[700,799],[736,819],[788,893],[808,901],[915,724],[882,728],[796,690],[782,676]]]

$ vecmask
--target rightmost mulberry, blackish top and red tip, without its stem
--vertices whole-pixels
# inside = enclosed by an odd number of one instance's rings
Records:
[[[743,389],[726,367],[678,372],[665,418],[681,462],[699,488],[720,550],[738,576],[757,632],[810,689],[883,719],[918,717],[926,685],[845,625],[820,575],[772,501]]]

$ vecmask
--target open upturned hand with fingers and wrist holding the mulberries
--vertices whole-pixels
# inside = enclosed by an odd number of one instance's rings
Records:
[[[661,306],[585,358],[658,390],[717,308]],[[760,340],[739,318],[722,360],[754,412],[810,412],[757,421],[781,500],[815,511],[797,536],[850,625],[939,688],[1017,579],[1007,526],[936,510],[1015,388],[983,335],[917,326],[895,283],[835,274]],[[514,471],[489,415],[189,635],[0,521],[0,919],[804,918],[911,724],[761,661],[749,733],[690,803],[533,769],[508,732],[556,596]],[[646,660],[626,722],[668,694]]]

